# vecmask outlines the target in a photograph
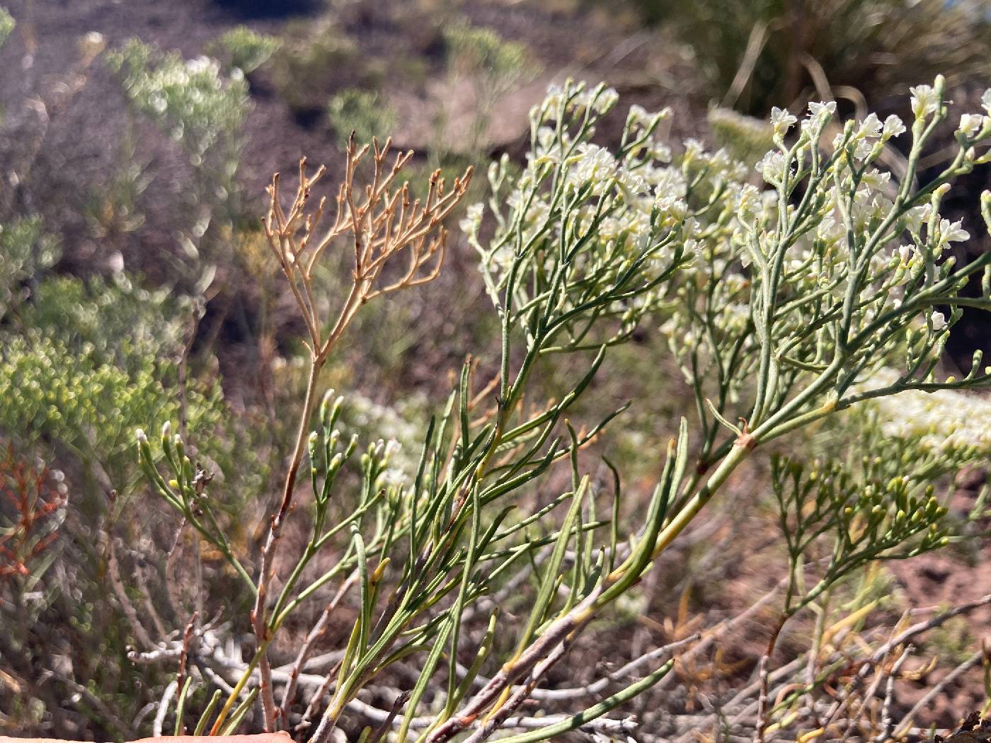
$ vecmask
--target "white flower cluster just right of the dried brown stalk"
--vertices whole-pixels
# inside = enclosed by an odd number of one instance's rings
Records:
[[[691,142],[683,162],[672,163],[671,149],[659,135],[667,110],[634,106],[618,147],[593,142],[597,123],[616,100],[615,91],[603,84],[552,86],[531,111],[531,150],[523,172],[511,178],[505,159],[490,169],[495,237],[486,246],[479,241],[481,205],[469,209],[462,222],[482,257],[496,306],[513,280],[510,269],[526,271],[533,280],[527,280],[525,291],[513,285],[513,303],[526,305],[527,297],[544,290],[561,291],[556,309],[576,322],[590,302],[596,303],[596,317],[613,318],[622,329],[614,341],[659,301],[655,283],[686,265],[697,245],[701,223],[686,200],[688,163],[720,171],[735,166],[724,152],[709,154]],[[742,166],[738,170],[745,172]],[[553,283],[558,288],[552,289]],[[575,343],[587,334],[568,327],[565,335]]]

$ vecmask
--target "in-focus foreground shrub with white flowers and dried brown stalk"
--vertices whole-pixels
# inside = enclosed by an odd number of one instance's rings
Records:
[[[966,609],[877,647],[845,641],[843,628],[867,636],[865,617],[885,592],[879,562],[965,536],[965,524],[947,519],[939,488],[988,456],[983,429],[974,435],[938,411],[904,423],[899,407],[923,393],[952,394],[960,419],[971,421],[985,403],[964,390],[991,383],[980,355],[962,378],[938,369],[960,308],[991,308],[991,253],[956,265],[947,248],[969,235],[940,215],[951,182],[988,159],[976,148],[991,138],[991,92],[983,112],[961,117],[945,168],[914,185],[949,115],[944,87],[937,78],[913,88],[909,170],[897,182],[877,169],[885,143],[907,131],[897,117],[871,115],[827,137],[834,104],[811,104],[801,123],[775,110],[774,149],[755,173],[697,142],[675,156],[657,136],[666,111],[631,107],[620,142],[596,144],[615,92],[553,87],[531,111],[525,167],[493,163],[490,199],[461,222],[500,326],[495,376],[480,379],[472,363],[464,366],[419,436],[415,472],[393,467],[388,431],[378,441],[347,435],[339,422],[348,396],[321,395],[321,371],[367,302],[436,275],[440,224],[467,179],[450,192],[433,179],[411,203],[397,185],[410,156],[390,165],[378,145],[352,143],[332,215],[325,201],[308,201],[322,169],[311,176],[301,163],[288,199],[276,177],[266,233],[306,328],[308,381],[280,498],[260,524],[257,562],[215,518],[210,473],[187,453],[193,437],[169,425],[161,437],[136,434],[151,488],[223,555],[254,603],[246,659],[194,624],[168,646],[169,657],[212,659],[213,673],[233,688],[180,671],[165,696],[175,699],[175,729],[231,731],[255,714],[268,730],[316,723],[313,743],[339,726],[361,740],[430,743],[627,735],[633,721],[606,715],[669,681],[675,655],[690,669],[694,651],[680,649],[705,647],[718,628],[706,640],[676,632],[674,642],[585,686],[573,681],[575,669],[561,673],[564,659],[594,620],[628,615],[635,586],[706,521],[716,493],[763,460],[789,563],[786,595],[756,682],[731,690],[722,713],[733,715],[733,734],[757,741],[826,731],[889,736],[891,692],[877,699],[874,690],[894,684],[911,653],[905,643]],[[755,185],[758,174],[765,185]],[[991,223],[991,193],[981,206]],[[314,272],[336,245],[353,262],[352,285],[323,296]],[[965,295],[982,273],[982,295]],[[620,473],[608,461],[594,468],[589,451],[626,406],[583,421],[576,402],[646,322],[660,324],[689,394],[675,401],[683,417],[656,453],[659,475],[632,530],[617,518]],[[541,399],[537,380],[550,369],[564,371],[569,387]],[[666,381],[652,388],[676,389]],[[782,453],[789,441],[801,446]],[[305,515],[294,516],[301,502]],[[301,545],[287,541],[290,524],[305,534]],[[785,625],[812,604],[829,616],[834,593],[848,597],[848,612],[832,625],[822,619],[811,646],[793,649],[794,660],[772,672]],[[307,674],[317,639],[342,614],[348,629],[319,666],[325,673]],[[302,617],[306,629],[289,641],[286,627]],[[842,682],[845,668],[861,670]],[[540,689],[552,679],[554,688]],[[839,700],[827,689],[836,683],[845,683]],[[383,684],[395,693],[375,701]],[[303,689],[305,704],[297,702]],[[539,714],[522,711],[528,700]],[[670,710],[650,734],[698,729],[690,712]],[[730,724],[722,713],[717,729]],[[359,733],[366,723],[379,732]]]

